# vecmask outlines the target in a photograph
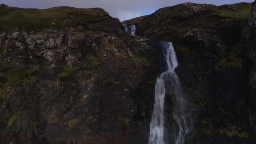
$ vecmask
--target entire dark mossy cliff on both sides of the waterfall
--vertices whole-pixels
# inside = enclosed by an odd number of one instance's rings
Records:
[[[158,40],[177,52],[195,117],[189,143],[256,141],[255,3],[185,3],[125,23],[147,38],[101,8],[1,4],[1,143],[147,144]]]

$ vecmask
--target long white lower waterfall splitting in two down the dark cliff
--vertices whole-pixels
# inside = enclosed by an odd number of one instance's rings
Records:
[[[178,67],[176,53],[171,42],[162,42],[163,53],[167,70],[163,72],[155,84],[155,105],[150,123],[149,144],[166,144],[165,136],[165,120],[164,120],[164,103],[165,103],[165,81],[171,83],[171,93],[173,95],[173,119],[179,127],[179,133],[175,134],[175,144],[184,144],[187,135],[192,128],[192,116],[187,109],[187,101],[184,92],[181,89],[178,75],[175,68]],[[176,131],[174,131],[176,133]]]

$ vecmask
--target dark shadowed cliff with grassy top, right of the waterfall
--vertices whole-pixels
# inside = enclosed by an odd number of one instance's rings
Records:
[[[255,3],[184,3],[161,8],[139,21],[125,21],[136,24],[141,37],[174,43],[177,74],[195,111],[190,143],[256,141],[255,16]],[[171,102],[166,105],[171,122]],[[168,125],[170,135],[172,131]]]

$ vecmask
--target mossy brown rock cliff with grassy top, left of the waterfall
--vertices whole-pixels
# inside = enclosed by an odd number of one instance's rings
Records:
[[[28,23],[0,16],[1,143],[147,141],[157,75],[147,39],[100,8],[6,11]]]

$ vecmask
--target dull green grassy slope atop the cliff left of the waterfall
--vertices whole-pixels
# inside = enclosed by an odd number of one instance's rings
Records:
[[[0,32],[9,34],[16,28],[31,32],[45,28],[74,27],[77,22],[86,24],[107,18],[110,16],[101,8],[26,9],[4,6],[0,8]]]

